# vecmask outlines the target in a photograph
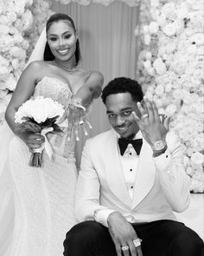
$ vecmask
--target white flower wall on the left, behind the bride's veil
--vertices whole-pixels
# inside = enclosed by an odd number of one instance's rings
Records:
[[[51,14],[51,3],[51,0],[0,1],[0,124],[25,62]]]

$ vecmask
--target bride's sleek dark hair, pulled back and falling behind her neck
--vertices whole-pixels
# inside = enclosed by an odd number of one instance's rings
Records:
[[[76,28],[73,23],[73,19],[64,13],[55,13],[54,15],[48,18],[48,22],[46,23],[46,33],[48,33],[48,30],[53,23],[57,23],[60,21],[67,21],[68,24],[73,28],[74,33],[76,33]],[[81,60],[79,39],[77,39],[77,42],[76,42],[75,58],[76,58],[76,65],[78,65]],[[51,49],[49,48],[49,45],[47,42],[44,50],[44,61],[53,61],[53,60],[54,60],[54,55],[52,54]]]

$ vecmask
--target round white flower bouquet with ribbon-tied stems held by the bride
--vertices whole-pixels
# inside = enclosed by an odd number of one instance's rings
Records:
[[[63,106],[59,102],[54,102],[51,98],[43,96],[30,99],[24,102],[16,111],[16,133],[23,134],[41,134],[45,137],[45,143],[41,148],[33,150],[29,166],[42,166],[42,152],[46,149],[48,156],[52,157],[52,148],[48,142],[46,134],[49,132],[61,132],[61,128],[56,124],[64,114]]]

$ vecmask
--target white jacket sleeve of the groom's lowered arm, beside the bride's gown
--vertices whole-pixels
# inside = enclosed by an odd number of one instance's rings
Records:
[[[95,213],[100,212],[100,210],[112,210],[101,206],[99,203],[99,176],[92,163],[89,144],[90,140],[87,140],[82,152],[80,174],[76,187],[75,214],[79,221],[95,220]]]

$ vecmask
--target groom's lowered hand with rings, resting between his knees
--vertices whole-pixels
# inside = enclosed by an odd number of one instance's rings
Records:
[[[137,233],[121,213],[111,213],[107,222],[118,256],[143,256],[141,246],[135,247],[133,244],[133,240],[138,239]],[[123,246],[126,246],[128,249],[122,251]]]

